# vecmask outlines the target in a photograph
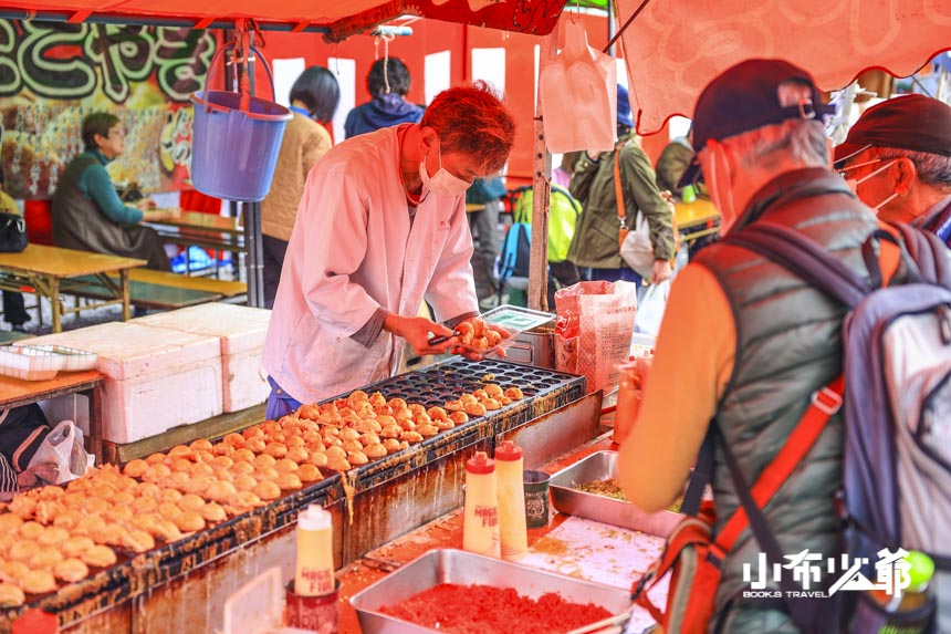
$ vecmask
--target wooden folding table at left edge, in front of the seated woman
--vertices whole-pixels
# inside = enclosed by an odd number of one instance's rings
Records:
[[[53,332],[61,332],[63,313],[74,313],[95,306],[122,304],[123,321],[132,316],[128,301],[128,270],[147,264],[136,258],[119,258],[104,253],[30,245],[20,253],[0,253],[0,289],[35,293],[50,300],[53,309]],[[116,283],[108,273],[117,272]],[[74,284],[88,287],[88,280],[77,278],[92,276],[106,291],[108,299],[82,309],[66,309],[60,293],[69,293]]]

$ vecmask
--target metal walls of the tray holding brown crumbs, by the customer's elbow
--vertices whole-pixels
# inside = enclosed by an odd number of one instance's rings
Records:
[[[646,513],[630,502],[588,493],[572,487],[594,480],[617,477],[617,451],[597,451],[552,476],[552,503],[563,513],[587,518],[606,524],[668,537],[681,513],[657,511]]]

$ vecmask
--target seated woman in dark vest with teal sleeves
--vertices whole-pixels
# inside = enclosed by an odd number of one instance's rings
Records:
[[[93,113],[83,119],[86,149],[63,172],[53,196],[53,241],[58,247],[148,260],[149,269],[170,271],[158,233],[143,220],[160,220],[148,198],[123,204],[106,165],[125,152],[125,129],[117,116]]]

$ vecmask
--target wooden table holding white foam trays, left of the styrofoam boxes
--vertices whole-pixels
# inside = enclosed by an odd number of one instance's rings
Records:
[[[104,374],[95,370],[87,372],[61,372],[49,381],[20,381],[0,376],[0,409],[20,407],[66,394],[82,394],[90,401],[90,436],[86,450],[103,459],[103,404],[102,384]],[[51,422],[52,423],[52,422]]]

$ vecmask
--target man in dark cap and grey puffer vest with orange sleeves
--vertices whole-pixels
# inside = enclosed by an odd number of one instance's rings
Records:
[[[619,481],[628,499],[657,511],[682,492],[712,430],[713,547],[700,571],[709,576],[692,596],[680,596],[682,583],[671,584],[662,616],[668,634],[708,627],[843,631],[829,600],[791,607],[785,600],[745,597],[750,581],[743,567],[749,564],[755,579],[760,554],[770,550],[757,537],[765,524],[781,553],[807,549],[819,558],[812,590],[827,589],[840,574],[828,573],[825,563],[842,552],[844,538],[837,505],[844,425],[832,382],[843,372],[848,308],[766,256],[730,241],[752,228],[780,226],[830,253],[837,266],[868,278],[863,246],[879,224],[830,169],[823,127],[830,110],[809,73],[781,60],[732,66],[704,89],[694,108],[697,154],[681,185],[702,176],[720,210],[724,240],[707,247],[671,289],[639,414],[619,455]],[[898,250],[882,242],[880,253],[885,278],[902,281]],[[809,426],[803,441],[796,433],[816,419],[819,425]],[[787,444],[791,437],[796,440]],[[764,471],[776,466],[784,471],[762,489],[769,495],[754,534],[750,516],[736,511],[745,508],[742,497],[750,488],[761,490]],[[772,567],[766,568],[769,573]],[[775,583],[769,589],[776,590]],[[693,603],[684,613],[671,614],[671,605],[688,599]],[[671,625],[684,615],[689,624]]]

